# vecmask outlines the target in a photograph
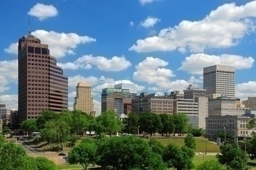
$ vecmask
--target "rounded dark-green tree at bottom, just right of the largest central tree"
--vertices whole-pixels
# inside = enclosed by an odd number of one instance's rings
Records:
[[[188,151],[188,153],[187,153]],[[170,143],[163,151],[163,161],[167,164],[168,168],[176,168],[177,170],[192,169],[193,150],[188,147],[181,149],[174,143]]]

